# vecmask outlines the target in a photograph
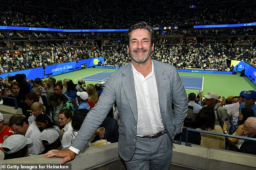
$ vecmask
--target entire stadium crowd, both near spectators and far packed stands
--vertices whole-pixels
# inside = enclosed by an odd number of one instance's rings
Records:
[[[115,1],[115,6],[110,2],[105,2],[104,6],[100,6],[103,3],[101,0],[96,0],[91,3],[81,2],[79,7],[75,4],[77,4],[76,0],[68,2],[63,0],[58,2],[2,0],[0,25],[58,29],[126,29],[140,20],[145,20],[153,27],[188,26],[189,28],[192,25],[256,22],[253,0],[239,1],[238,4],[220,0],[198,2],[180,0],[172,4],[155,3],[153,0],[140,2],[128,0],[122,3]],[[237,6],[241,8],[237,9]],[[166,33],[156,31],[156,35],[254,32],[254,27],[180,29]],[[125,66],[131,59],[126,42],[122,38],[124,35],[123,32],[1,31],[0,38],[61,37],[71,38],[71,41],[69,43],[46,41],[37,44],[27,41],[19,45],[13,43],[8,47],[3,45],[0,47],[0,74],[93,57],[104,57],[103,66]],[[101,41],[101,44],[93,40],[86,42],[73,40],[78,37],[121,37],[122,40],[108,39]],[[232,71],[234,68],[231,66],[231,59],[247,61],[256,66],[254,41],[255,38],[242,39],[241,37],[183,39],[183,42],[178,38],[155,38],[152,58],[172,64],[177,69]],[[67,79],[56,80],[52,77],[44,81],[40,78],[27,80],[25,74],[0,77],[0,95],[16,98],[18,107],[23,112],[23,115],[12,116],[8,125],[3,125],[3,115],[0,113],[0,143],[2,143],[0,150],[5,153],[4,159],[34,156],[52,149],[68,148],[78,134],[88,111],[97,103],[104,85],[105,82],[86,85],[83,79],[79,79],[78,82]],[[256,92],[254,90],[242,91],[240,94],[233,94],[227,98],[221,98],[216,92],[203,94],[199,91],[198,93],[199,95],[188,94],[188,116],[181,135],[184,135],[186,128],[190,127],[256,138]],[[13,100],[4,97],[1,98],[0,104],[15,106]],[[88,147],[117,142],[118,119],[118,108],[114,104],[108,117],[100,126],[101,128],[92,134]],[[10,137],[4,140],[2,136]],[[212,138],[199,133],[189,133],[189,136],[189,143],[256,155],[255,142],[231,137],[225,141],[225,137]],[[178,140],[179,136],[176,137]],[[184,140],[185,137],[182,136],[182,141]]]

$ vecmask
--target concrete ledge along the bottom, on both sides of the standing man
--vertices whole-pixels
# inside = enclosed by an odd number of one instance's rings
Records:
[[[62,158],[44,158],[42,155],[3,160],[0,164],[58,164]],[[69,162],[72,170],[126,170],[124,162],[118,155],[118,143],[88,147]],[[192,147],[173,145],[172,164],[186,167],[184,169],[219,170],[252,170],[256,168],[255,156],[238,152],[212,149],[200,145]],[[2,166],[0,166],[2,169]]]

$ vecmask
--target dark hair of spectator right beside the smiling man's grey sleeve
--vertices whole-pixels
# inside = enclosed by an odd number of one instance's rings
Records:
[[[73,119],[72,119],[72,127],[75,129],[75,130],[79,130],[84,122],[84,119],[85,117],[87,116],[87,113],[89,111],[87,109],[78,109],[76,110],[76,113],[74,114],[73,116]]]

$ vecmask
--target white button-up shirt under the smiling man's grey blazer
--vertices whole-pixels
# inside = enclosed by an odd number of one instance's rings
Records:
[[[159,108],[154,66],[146,77],[132,66],[138,108],[137,135],[152,135],[164,131]]]

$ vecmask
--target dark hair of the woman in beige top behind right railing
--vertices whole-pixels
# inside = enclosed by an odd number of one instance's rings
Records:
[[[196,128],[206,130],[208,128],[214,129],[215,126],[215,113],[211,107],[203,107],[195,118]]]

